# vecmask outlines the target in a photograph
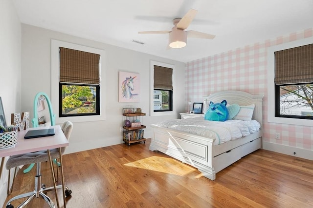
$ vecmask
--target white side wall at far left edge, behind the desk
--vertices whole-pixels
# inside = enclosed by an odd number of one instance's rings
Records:
[[[10,124],[11,113],[21,112],[21,23],[10,0],[0,0],[0,96]],[[8,179],[4,167],[0,177],[2,207]]]

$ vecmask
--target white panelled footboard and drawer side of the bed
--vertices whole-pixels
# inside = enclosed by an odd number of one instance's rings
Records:
[[[216,173],[261,148],[262,131],[241,139],[213,145],[213,139],[151,125],[149,150],[160,151],[197,168],[204,177],[215,180]]]

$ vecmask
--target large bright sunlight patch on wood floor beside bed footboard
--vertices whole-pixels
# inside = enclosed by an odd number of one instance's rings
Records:
[[[177,160],[167,157],[151,156],[145,159],[137,160],[132,163],[124,164],[125,166],[153,170],[174,175],[183,176],[195,171],[188,165]]]

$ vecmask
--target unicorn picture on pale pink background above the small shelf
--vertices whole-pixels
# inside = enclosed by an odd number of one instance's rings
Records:
[[[118,102],[140,101],[140,76],[137,73],[119,72]]]

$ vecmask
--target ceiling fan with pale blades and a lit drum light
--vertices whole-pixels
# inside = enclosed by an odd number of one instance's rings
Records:
[[[182,18],[173,19],[174,27],[172,31],[142,31],[139,34],[166,34],[169,33],[169,46],[171,48],[182,48],[187,44],[188,38],[213,39],[214,35],[201,33],[194,30],[185,31],[197,14],[197,10],[190,9]]]

